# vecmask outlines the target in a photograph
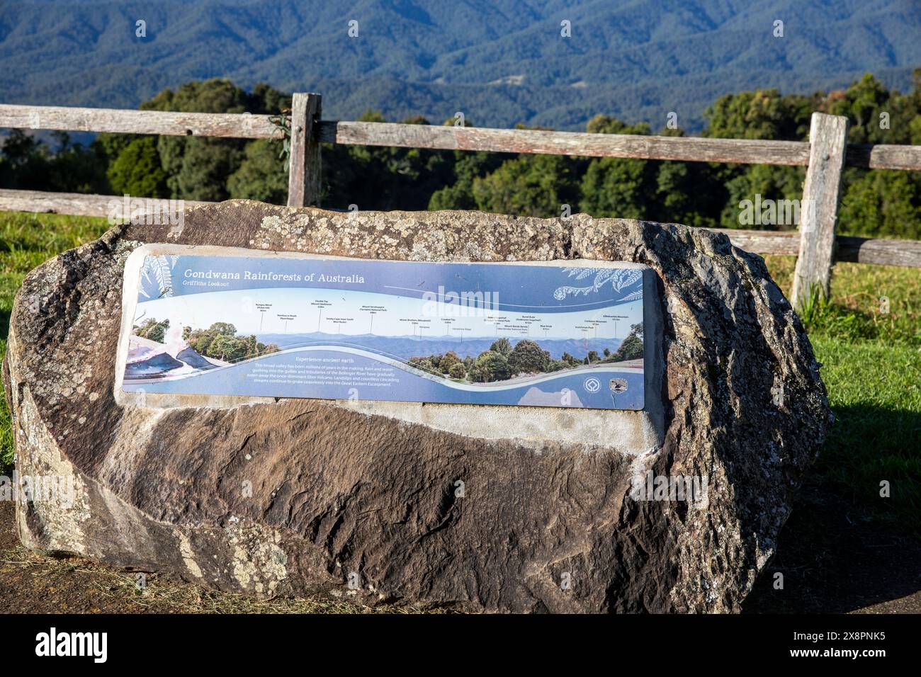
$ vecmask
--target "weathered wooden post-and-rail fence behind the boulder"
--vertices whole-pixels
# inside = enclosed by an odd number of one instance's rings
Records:
[[[810,141],[710,139],[633,134],[582,134],[519,129],[482,129],[399,123],[321,120],[321,96],[293,97],[290,131],[273,116],[250,113],[121,111],[58,106],[0,105],[0,127],[34,130],[169,134],[281,139],[290,134],[290,206],[319,205],[321,143],[483,150],[595,158],[642,158],[688,162],[799,165],[807,168],[799,231],[714,228],[737,247],[760,254],[798,256],[793,302],[814,286],[828,293],[834,261],[921,267],[921,241],[835,237],[845,166],[921,169],[921,146],[848,145],[847,119],[812,113]],[[0,210],[106,216],[110,195],[0,190]],[[192,203],[186,203],[192,204]]]

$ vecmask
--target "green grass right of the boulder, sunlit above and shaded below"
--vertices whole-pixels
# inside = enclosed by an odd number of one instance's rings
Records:
[[[766,261],[789,293],[795,257]],[[818,484],[868,519],[921,536],[921,270],[838,263],[831,299],[804,315],[836,418],[814,470]]]

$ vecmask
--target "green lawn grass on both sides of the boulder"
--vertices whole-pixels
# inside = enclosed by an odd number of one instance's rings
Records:
[[[0,213],[0,336],[22,278],[55,254],[94,239],[101,218]],[[796,261],[767,257],[789,292]],[[889,299],[880,312],[880,297]],[[805,318],[837,418],[815,469],[819,485],[853,499],[868,519],[919,533],[921,514],[921,271],[839,263],[832,299]],[[6,340],[0,350],[6,350]],[[6,402],[0,465],[12,462]],[[880,497],[888,481],[892,496]]]

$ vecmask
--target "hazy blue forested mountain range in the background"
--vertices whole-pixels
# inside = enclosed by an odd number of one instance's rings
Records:
[[[463,111],[478,126],[584,129],[606,113],[658,128],[675,111],[695,132],[728,92],[866,72],[908,88],[919,35],[917,0],[5,0],[0,98],[136,108],[221,76],[320,91],[329,119]]]

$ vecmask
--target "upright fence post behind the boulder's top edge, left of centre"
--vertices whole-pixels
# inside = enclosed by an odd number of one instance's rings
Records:
[[[320,205],[320,114],[319,94],[297,92],[292,96],[289,207]]]

